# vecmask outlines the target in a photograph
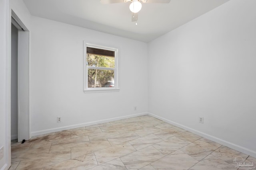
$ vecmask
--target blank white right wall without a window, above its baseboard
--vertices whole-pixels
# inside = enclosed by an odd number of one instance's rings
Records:
[[[149,112],[254,157],[255,6],[231,0],[148,47]]]

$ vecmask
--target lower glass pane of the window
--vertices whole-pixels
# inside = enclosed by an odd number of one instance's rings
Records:
[[[114,87],[114,70],[88,68],[88,88]]]

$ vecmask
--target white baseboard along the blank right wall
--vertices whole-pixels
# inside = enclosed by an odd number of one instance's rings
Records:
[[[224,146],[229,147],[229,148],[234,149],[234,150],[238,150],[239,152],[242,152],[242,153],[244,153],[244,154],[248,154],[248,155],[253,156],[254,158],[256,158],[256,151],[254,151],[254,150],[250,150],[250,149],[248,149],[248,148],[246,148],[246,147],[242,147],[242,146],[236,145],[236,144],[234,144],[234,143],[231,143],[231,142],[229,142],[229,141],[225,141],[225,140],[223,140],[223,139],[220,139],[220,138],[218,138],[218,137],[214,137],[214,136],[212,136],[212,135],[208,135],[208,134],[206,134],[206,133],[203,133],[203,132],[197,131],[197,130],[195,130],[195,129],[192,129],[192,128],[190,128],[190,127],[187,127],[187,126],[181,125],[181,124],[179,124],[179,123],[170,121],[170,120],[165,119],[165,118],[163,118],[163,117],[160,117],[160,116],[158,116],[158,115],[154,115],[154,114],[152,114],[152,113],[148,113],[148,115],[153,116],[153,117],[155,117],[155,118],[157,118],[157,119],[160,119],[160,120],[162,120],[162,121],[165,121],[166,123],[170,123],[170,124],[172,124],[172,125],[174,125],[174,126],[177,126],[177,127],[182,128],[182,129],[184,129],[184,130],[186,130],[186,131],[189,131],[189,132],[191,132],[191,133],[194,133],[194,134],[199,135],[199,136],[201,136],[201,137],[204,137],[204,138],[206,138],[206,139],[210,139],[211,141],[214,141],[214,142],[216,142],[216,143],[220,143],[221,145],[224,145]]]

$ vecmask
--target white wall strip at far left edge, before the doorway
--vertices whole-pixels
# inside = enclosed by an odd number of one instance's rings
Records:
[[[0,169],[8,169],[8,0],[0,0],[0,148],[4,147],[4,157],[0,159]]]

